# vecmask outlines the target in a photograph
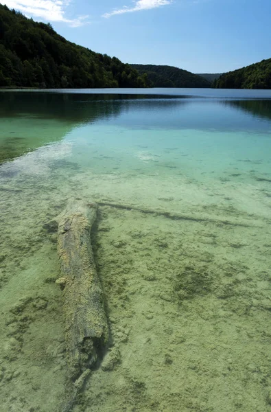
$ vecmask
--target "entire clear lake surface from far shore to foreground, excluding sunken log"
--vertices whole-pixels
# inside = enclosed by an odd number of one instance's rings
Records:
[[[0,122],[5,410],[67,398],[71,199],[99,203],[113,365],[74,411],[271,410],[270,91],[2,91]]]

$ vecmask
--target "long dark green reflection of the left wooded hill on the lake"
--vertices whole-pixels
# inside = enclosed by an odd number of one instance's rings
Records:
[[[146,99],[147,97],[147,99]],[[175,96],[174,96],[175,97]],[[0,164],[45,144],[63,139],[72,128],[99,119],[118,117],[137,109],[166,108],[185,104],[158,95],[87,95],[82,93],[0,93]]]

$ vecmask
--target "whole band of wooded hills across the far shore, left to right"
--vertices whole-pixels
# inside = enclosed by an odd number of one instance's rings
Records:
[[[49,23],[36,23],[0,4],[0,87],[271,89],[271,59],[221,76],[172,66],[128,65],[75,45]]]

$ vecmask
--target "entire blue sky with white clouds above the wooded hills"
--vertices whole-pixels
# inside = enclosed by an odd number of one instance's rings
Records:
[[[271,0],[3,0],[123,62],[220,73],[271,58]]]

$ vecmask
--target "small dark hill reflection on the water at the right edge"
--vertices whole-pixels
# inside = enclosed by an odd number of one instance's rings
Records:
[[[231,100],[224,104],[239,108],[255,117],[271,120],[271,100]]]

